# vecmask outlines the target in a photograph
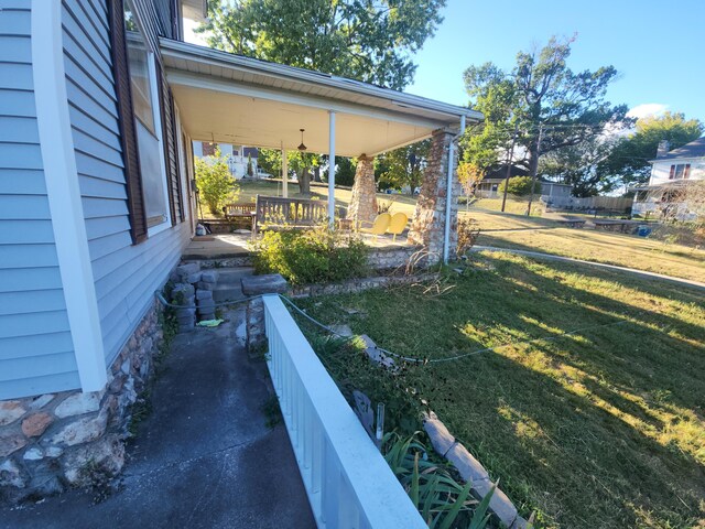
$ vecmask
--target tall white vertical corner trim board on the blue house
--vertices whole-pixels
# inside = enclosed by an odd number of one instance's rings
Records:
[[[62,3],[32,0],[32,74],[46,195],[84,391],[107,381],[98,302],[68,116]]]

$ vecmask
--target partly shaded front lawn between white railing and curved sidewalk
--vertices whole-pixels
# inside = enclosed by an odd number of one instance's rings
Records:
[[[414,357],[516,344],[401,376],[316,348],[341,387],[373,400],[381,388],[388,415],[410,395],[427,400],[520,510],[540,514],[540,527],[703,527],[702,292],[497,252],[474,256],[446,287],[301,303]],[[534,338],[552,339],[525,343]]]

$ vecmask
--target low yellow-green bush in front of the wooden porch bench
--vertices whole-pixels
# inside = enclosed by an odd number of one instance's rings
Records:
[[[252,250],[257,273],[281,273],[292,284],[359,278],[368,268],[362,240],[327,227],[265,231]]]

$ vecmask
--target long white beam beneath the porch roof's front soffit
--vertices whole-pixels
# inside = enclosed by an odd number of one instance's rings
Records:
[[[207,74],[193,74],[167,68],[166,79],[172,86],[181,85],[191,88],[202,88],[206,90],[220,91],[224,94],[232,94],[236,96],[251,97],[254,99],[264,99],[270,101],[285,102],[290,105],[299,105],[302,107],[315,108],[317,110],[328,110],[340,114],[349,114],[352,116],[361,116],[371,119],[394,121],[398,123],[404,123],[415,127],[425,127],[432,130],[443,128],[447,125],[442,121],[434,121],[427,118],[416,118],[410,115],[395,114],[382,108],[346,104],[333,99],[308,96],[306,94],[296,94],[293,91],[278,90],[276,88],[264,86],[252,86],[239,82],[220,79]]]

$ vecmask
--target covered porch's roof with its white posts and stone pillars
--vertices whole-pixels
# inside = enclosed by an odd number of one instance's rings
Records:
[[[197,141],[280,149],[283,174],[286,152],[302,143],[301,129],[305,130],[306,152],[326,154],[333,161],[336,156],[371,160],[382,152],[434,137],[427,182],[412,219],[412,233],[417,244],[434,246],[436,251],[443,246],[447,257],[456,226],[454,140],[466,122],[481,119],[479,112],[194,44],[170,40],[160,44],[167,82],[189,137]],[[330,219],[335,208],[335,162],[328,163]],[[375,201],[369,168],[371,162],[358,165],[350,203],[355,215],[368,216],[364,220],[369,220],[370,212],[375,210],[362,204]],[[360,174],[365,172],[368,174]],[[283,177],[283,196],[289,194],[288,183],[289,179]],[[435,240],[438,237],[444,240]]]

